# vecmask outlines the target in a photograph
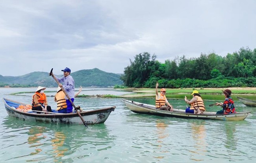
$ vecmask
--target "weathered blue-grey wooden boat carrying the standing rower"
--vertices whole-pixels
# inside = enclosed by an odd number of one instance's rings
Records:
[[[82,120],[78,116],[78,113],[56,113],[56,112],[48,112],[49,114],[39,114],[37,112],[28,111],[24,112],[19,109],[19,105],[26,105],[24,103],[20,103],[13,100],[8,100],[3,98],[4,105],[9,116],[21,119],[23,121],[42,121],[46,123],[66,123],[66,124],[83,124]],[[97,109],[97,110],[89,110],[80,112],[81,116],[85,120],[85,123],[88,125],[104,123],[111,111],[115,110],[115,106]]]

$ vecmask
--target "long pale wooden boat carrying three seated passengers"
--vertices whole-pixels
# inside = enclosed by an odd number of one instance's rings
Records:
[[[135,113],[152,114],[157,116],[169,116],[177,118],[196,118],[196,119],[210,119],[210,120],[224,120],[224,121],[240,121],[244,120],[250,112],[237,112],[234,114],[216,114],[216,112],[204,112],[204,114],[186,113],[185,110],[173,109],[172,112],[156,109],[155,105],[139,103],[130,100],[124,100],[125,105]]]

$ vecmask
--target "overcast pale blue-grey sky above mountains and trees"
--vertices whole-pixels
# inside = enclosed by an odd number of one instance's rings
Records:
[[[123,73],[129,58],[256,48],[255,0],[0,0],[0,74]]]

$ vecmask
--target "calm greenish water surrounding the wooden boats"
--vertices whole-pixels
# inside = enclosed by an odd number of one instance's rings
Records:
[[[0,88],[0,98],[31,103],[30,96],[9,95],[35,88]],[[47,89],[55,91],[55,89]],[[95,93],[99,91],[101,93]],[[111,92],[111,93],[110,93]],[[111,89],[85,90],[82,94],[126,94]],[[191,98],[188,96],[188,98]],[[154,104],[154,99],[131,99]],[[56,103],[48,97],[53,108]],[[177,109],[184,100],[169,100]],[[76,98],[83,109],[115,105],[104,124],[46,124],[16,120],[0,101],[0,158],[4,163],[251,163],[256,161],[256,108],[236,102],[237,111],[251,111],[244,121],[186,120],[136,114],[122,99]],[[206,105],[215,101],[205,101]],[[208,111],[220,110],[208,107]]]

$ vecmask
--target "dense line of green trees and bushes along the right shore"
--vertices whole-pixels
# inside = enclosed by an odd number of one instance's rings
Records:
[[[198,58],[185,55],[160,63],[155,54],[137,54],[124,68],[121,80],[127,87],[256,87],[256,49],[240,48],[222,57],[215,53]]]

